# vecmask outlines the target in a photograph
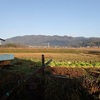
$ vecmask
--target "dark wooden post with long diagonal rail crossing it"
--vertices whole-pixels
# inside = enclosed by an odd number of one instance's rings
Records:
[[[22,81],[18,81],[17,86],[15,86],[14,88],[12,88],[11,90],[9,90],[6,94],[4,94],[2,97],[0,97],[0,100],[8,100],[9,97],[13,94],[16,93],[16,91],[26,82],[28,82],[33,76],[35,76],[38,73],[42,73],[42,76],[44,77],[44,69],[46,66],[48,66],[48,64],[52,61],[52,59],[50,59],[47,63],[45,63],[45,57],[44,55],[42,55],[42,66],[37,69],[36,71],[34,71],[29,77],[23,79]]]

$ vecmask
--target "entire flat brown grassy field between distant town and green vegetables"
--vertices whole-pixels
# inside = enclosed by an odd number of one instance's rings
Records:
[[[68,61],[100,61],[100,48],[0,48],[0,53],[12,53],[18,58],[41,59],[44,54],[46,59]]]

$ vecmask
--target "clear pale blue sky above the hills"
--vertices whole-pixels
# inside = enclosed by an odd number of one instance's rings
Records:
[[[100,37],[100,0],[0,0],[0,38]]]

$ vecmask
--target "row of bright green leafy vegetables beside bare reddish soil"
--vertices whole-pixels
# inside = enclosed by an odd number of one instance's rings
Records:
[[[100,61],[52,61],[50,63],[51,67],[100,67]]]

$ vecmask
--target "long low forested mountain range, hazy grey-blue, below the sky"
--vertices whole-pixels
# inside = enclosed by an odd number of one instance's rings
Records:
[[[27,46],[66,46],[66,47],[100,47],[100,38],[97,37],[71,37],[71,36],[46,36],[46,35],[25,35],[6,39],[4,44],[16,43]]]

